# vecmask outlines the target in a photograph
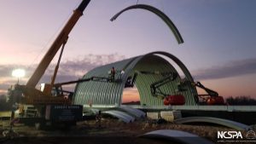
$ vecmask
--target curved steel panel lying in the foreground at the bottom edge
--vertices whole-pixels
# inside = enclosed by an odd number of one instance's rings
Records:
[[[178,143],[189,143],[189,144],[213,144],[212,141],[208,141],[198,135],[194,135],[181,130],[155,130],[148,132],[143,137],[149,138],[163,138]]]

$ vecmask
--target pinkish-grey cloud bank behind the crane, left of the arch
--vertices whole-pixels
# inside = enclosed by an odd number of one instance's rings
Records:
[[[67,82],[82,78],[86,72],[96,66],[106,65],[117,60],[124,60],[124,55],[110,54],[110,55],[84,55],[75,60],[63,60],[61,61],[55,83]],[[15,68],[23,68],[26,70],[25,78],[20,78],[21,84],[26,84],[28,78],[32,75],[37,65],[0,65],[0,95],[10,87],[11,84],[17,83],[16,78],[11,77],[11,72]],[[44,76],[40,79],[38,84],[50,83],[50,79],[54,73],[55,64],[49,65],[49,68],[44,73]]]

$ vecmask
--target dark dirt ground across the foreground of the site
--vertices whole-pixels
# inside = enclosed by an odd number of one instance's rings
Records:
[[[141,135],[153,130],[183,130],[189,133],[200,135],[208,140],[217,141],[218,130],[231,130],[216,125],[183,125],[183,124],[156,124],[146,121],[136,121],[125,124],[118,119],[104,118],[101,127],[95,120],[79,122],[70,128],[54,128],[49,126],[46,130],[36,130],[35,127],[24,124],[15,124],[14,130],[18,133],[13,139],[3,137],[2,133],[8,128],[8,121],[2,121],[0,128],[0,143],[3,144],[67,144],[67,143],[104,143],[104,144],[156,144],[156,143],[176,143],[166,139],[148,139]]]

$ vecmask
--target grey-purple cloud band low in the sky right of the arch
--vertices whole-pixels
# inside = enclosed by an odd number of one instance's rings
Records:
[[[191,72],[196,80],[231,78],[256,73],[256,58],[234,60],[221,66],[202,68]]]

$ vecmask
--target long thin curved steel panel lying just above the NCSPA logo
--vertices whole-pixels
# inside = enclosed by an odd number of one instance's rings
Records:
[[[230,127],[235,130],[249,130],[250,126],[246,124],[241,124],[232,120],[224,119],[224,118],[211,118],[211,117],[187,117],[187,118],[178,118],[174,120],[176,124],[186,124],[186,123],[212,123],[212,124],[220,124],[226,127]]]

